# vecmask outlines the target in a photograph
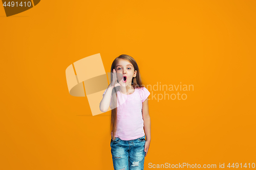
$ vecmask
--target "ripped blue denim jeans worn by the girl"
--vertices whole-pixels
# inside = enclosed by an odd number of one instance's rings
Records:
[[[115,170],[143,170],[145,135],[134,140],[121,140],[111,136],[111,154]]]

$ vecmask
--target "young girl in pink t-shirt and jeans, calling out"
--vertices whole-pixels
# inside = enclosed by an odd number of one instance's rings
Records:
[[[150,92],[142,87],[139,67],[131,56],[117,57],[111,72],[111,84],[103,93],[100,110],[106,112],[109,106],[112,109],[110,146],[114,169],[144,169],[151,141]]]

